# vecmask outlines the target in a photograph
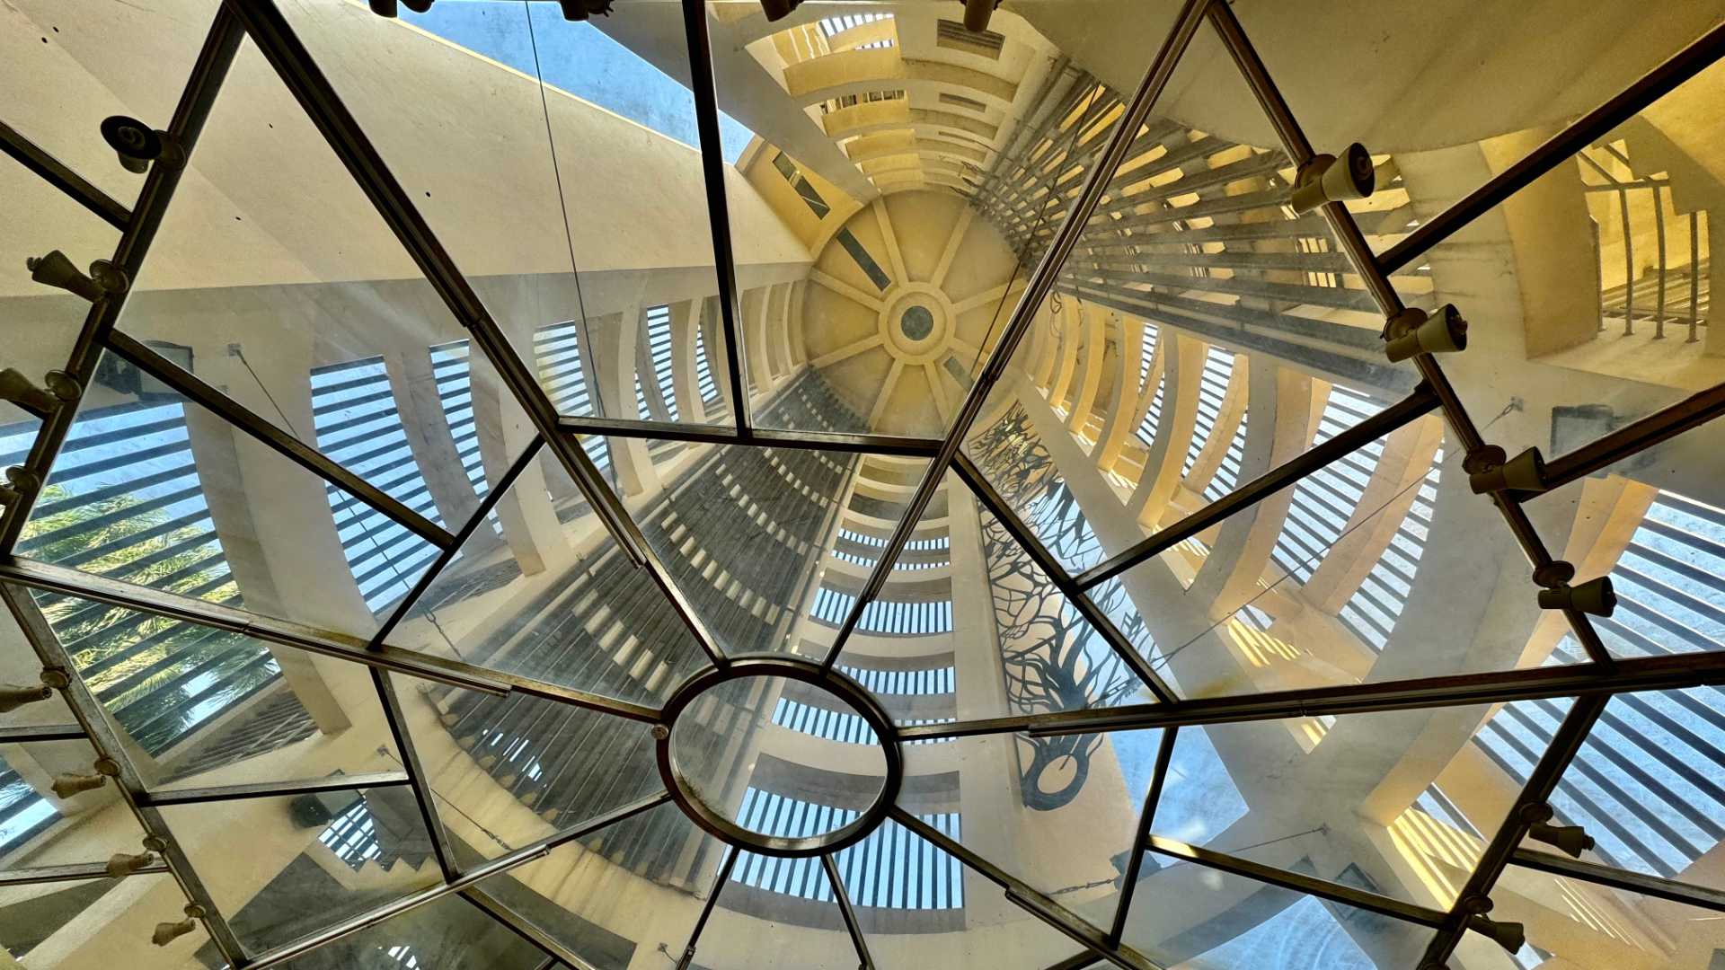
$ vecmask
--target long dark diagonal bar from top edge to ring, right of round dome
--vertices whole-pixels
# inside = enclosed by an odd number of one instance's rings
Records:
[[[869,573],[861,594],[857,594],[856,602],[850,606],[850,613],[845,614],[844,623],[838,627],[838,635],[833,637],[833,646],[821,661],[823,666],[831,668],[833,663],[837,663],[845,640],[862,620],[862,609],[880,594],[881,587],[887,585],[887,576],[892,573],[894,561],[897,561],[906,542],[911,540],[911,533],[916,532],[916,523],[923,518],[923,511],[928,509],[928,502],[940,488],[947,468],[952,464],[952,457],[964,444],[964,435],[969,433],[971,425],[982,414],[982,407],[988,399],[988,390],[992,390],[995,381],[999,381],[1006,373],[1007,364],[1013,361],[1013,352],[1018,349],[1018,342],[1023,340],[1032,321],[1035,321],[1037,312],[1042,309],[1042,300],[1054,288],[1054,283],[1059,278],[1061,264],[1066,261],[1073,245],[1076,245],[1080,233],[1083,233],[1085,223],[1090,219],[1090,212],[1094,212],[1097,202],[1102,200],[1102,193],[1107,190],[1107,183],[1111,181],[1114,169],[1120,167],[1126,150],[1137,138],[1138,128],[1144,124],[1145,116],[1149,116],[1151,105],[1156,104],[1163,88],[1168,86],[1168,79],[1173,76],[1175,62],[1192,41],[1192,35],[1197,31],[1204,9],[1209,2],[1211,0],[1187,0],[1182,5],[1173,28],[1163,40],[1163,47],[1156,52],[1156,59],[1151,62],[1151,69],[1144,74],[1144,83],[1138,86],[1137,95],[1133,95],[1132,105],[1114,123],[1114,131],[1109,135],[1107,148],[1102,150],[1095,167],[1088,176],[1085,176],[1083,188],[1073,200],[1066,219],[1054,233],[1054,238],[1049,242],[1047,250],[1044,250],[1037,268],[1030,273],[1025,290],[1019,293],[1018,304],[1013,307],[1011,318],[1000,330],[1000,338],[995,342],[994,352],[988,354],[988,362],[983,364],[982,373],[976,375],[976,383],[973,383],[969,392],[966,392],[964,402],[959,406],[959,413],[952,421],[952,428],[940,444],[940,452],[928,463],[928,471],[923,475],[921,483],[916,487],[916,492],[906,506],[904,516],[899,520],[892,537],[881,549],[880,561],[875,563],[875,570]]]

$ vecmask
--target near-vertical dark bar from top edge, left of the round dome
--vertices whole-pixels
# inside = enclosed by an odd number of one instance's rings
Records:
[[[712,266],[719,281],[719,328],[724,333],[724,373],[731,381],[731,421],[747,435],[749,369],[743,364],[742,314],[737,292],[737,257],[731,250],[730,198],[724,190],[724,148],[719,140],[719,104],[712,81],[712,45],[707,36],[707,5],[683,0],[683,33],[688,43],[688,90],[695,95],[695,131],[700,136],[700,174],[707,188],[707,226],[712,233]],[[766,375],[761,375],[766,378]],[[764,385],[764,380],[762,380]]]

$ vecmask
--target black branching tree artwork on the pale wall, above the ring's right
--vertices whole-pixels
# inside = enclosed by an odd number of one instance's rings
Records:
[[[1032,431],[1023,407],[1014,406],[973,437],[968,450],[1000,497],[1019,511],[1056,557],[1073,561],[1099,549],[1090,523]],[[982,539],[1007,702],[1018,713],[1032,715],[1107,708],[1132,699],[1140,687],[1132,671],[988,513],[982,516]],[[1118,585],[1106,590],[1097,606],[1109,616],[1130,613],[1116,621],[1138,642],[1144,621],[1123,602],[1125,592]],[[1090,756],[1102,746],[1102,737],[1019,734],[1018,742],[1025,804],[1049,811],[1071,803],[1083,789]]]

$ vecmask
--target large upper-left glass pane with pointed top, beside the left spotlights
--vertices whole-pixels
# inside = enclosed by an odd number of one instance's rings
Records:
[[[276,176],[255,178],[266,167]],[[312,195],[319,204],[307,207]],[[474,454],[500,475],[531,437],[497,371],[467,354],[467,331],[250,45],[121,330],[448,528],[478,502],[464,475]],[[102,376],[162,390],[119,359]]]

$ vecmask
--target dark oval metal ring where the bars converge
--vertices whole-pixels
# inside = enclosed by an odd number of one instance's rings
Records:
[[[697,697],[719,687],[721,683],[730,683],[733,680],[743,680],[747,677],[781,677],[785,680],[797,680],[802,683],[811,683],[823,690],[838,696],[840,701],[850,704],[850,708],[868,721],[873,728],[875,737],[880,742],[881,754],[887,758],[887,775],[881,778],[880,792],[875,801],[869,803],[861,815],[857,815],[849,825],[833,828],[831,832],[823,832],[819,835],[762,835],[743,828],[724,813],[716,811],[712,806],[700,797],[695,785],[683,777],[678,770],[676,756],[671,753],[671,735],[676,732],[676,718],[685,708],[695,702]],[[749,849],[750,853],[759,853],[762,856],[781,856],[781,858],[807,858],[819,856],[826,853],[837,853],[847,846],[854,846],[866,839],[869,832],[880,827],[887,818],[887,811],[899,799],[899,785],[904,782],[904,758],[899,751],[899,730],[892,723],[885,708],[862,689],[861,683],[850,680],[837,670],[825,670],[821,665],[788,656],[788,654],[742,654],[730,658],[730,663],[721,666],[709,666],[697,671],[688,680],[678,685],[676,692],[664,706],[662,723],[666,730],[664,737],[657,737],[661,732],[654,732],[659,753],[659,777],[664,778],[664,787],[671,792],[671,801],[688,815],[695,825],[702,827],[711,835],[719,841],[737,846],[738,849]]]

